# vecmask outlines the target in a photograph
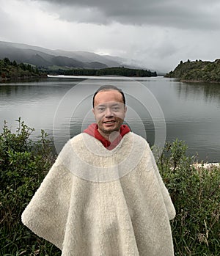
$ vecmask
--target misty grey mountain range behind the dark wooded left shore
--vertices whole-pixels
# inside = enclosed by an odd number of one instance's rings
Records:
[[[126,65],[127,59],[117,56],[99,55],[87,51],[62,51],[0,41],[0,59],[7,57],[18,63],[29,63],[37,67],[73,67],[100,69],[106,67],[133,67]],[[140,67],[139,67],[140,68]]]

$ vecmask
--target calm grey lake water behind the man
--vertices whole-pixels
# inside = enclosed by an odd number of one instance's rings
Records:
[[[128,103],[125,122],[150,145],[182,139],[188,154],[220,161],[220,84],[187,84],[170,78],[80,80],[48,78],[0,84],[0,122],[15,131],[18,117],[54,136],[59,151],[93,119],[92,93],[103,84],[121,87]]]

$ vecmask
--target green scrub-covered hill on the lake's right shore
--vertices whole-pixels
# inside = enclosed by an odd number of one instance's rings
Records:
[[[214,62],[196,60],[181,61],[175,70],[165,75],[169,78],[179,78],[180,81],[205,81],[220,83],[220,59]]]

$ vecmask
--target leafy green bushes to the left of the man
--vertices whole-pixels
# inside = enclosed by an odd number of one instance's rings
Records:
[[[21,213],[54,162],[51,142],[41,132],[32,142],[34,129],[21,118],[12,134],[4,123],[0,134],[0,255],[60,255],[59,249],[38,238],[21,223]]]

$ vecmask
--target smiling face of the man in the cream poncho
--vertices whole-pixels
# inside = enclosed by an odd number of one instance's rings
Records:
[[[100,134],[111,134],[120,131],[127,108],[122,95],[117,90],[100,91],[95,95],[92,109]]]

